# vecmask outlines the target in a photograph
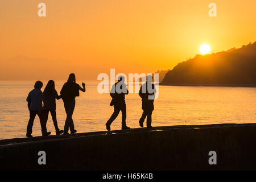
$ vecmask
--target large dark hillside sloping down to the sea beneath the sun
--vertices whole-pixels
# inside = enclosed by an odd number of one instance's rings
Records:
[[[256,86],[256,42],[196,55],[166,73],[160,85]]]

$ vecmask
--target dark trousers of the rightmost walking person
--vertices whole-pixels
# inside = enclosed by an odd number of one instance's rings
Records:
[[[151,126],[152,122],[152,111],[154,110],[154,101],[151,100],[146,100],[142,101],[142,116],[141,119],[139,119],[139,122],[143,123],[145,118],[147,117],[147,127]]]

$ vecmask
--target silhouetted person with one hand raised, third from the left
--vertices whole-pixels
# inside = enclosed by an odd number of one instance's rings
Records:
[[[75,74],[71,73],[68,77],[68,81],[63,85],[63,88],[60,91],[61,98],[64,101],[65,111],[67,113],[64,126],[64,135],[68,134],[68,129],[70,129],[71,134],[76,133],[72,115],[76,105],[75,98],[79,96],[79,90],[85,92],[85,84],[82,83],[81,88],[81,86],[76,83]]]

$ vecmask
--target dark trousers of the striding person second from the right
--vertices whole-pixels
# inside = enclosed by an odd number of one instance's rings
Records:
[[[120,100],[115,102],[114,104],[114,113],[111,115],[111,117],[108,120],[108,124],[111,125],[111,123],[117,118],[119,112],[122,112],[122,126],[126,126],[126,104],[125,100]]]

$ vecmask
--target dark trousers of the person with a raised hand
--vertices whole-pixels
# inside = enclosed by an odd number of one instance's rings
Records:
[[[64,126],[64,133],[68,132],[68,129],[70,129],[70,131],[74,131],[74,122],[72,119],[72,115],[73,115],[73,111],[75,109],[75,105],[76,105],[76,100],[72,100],[71,102],[64,102],[64,107],[65,107],[65,111],[67,114],[67,118],[65,121],[65,126]]]

